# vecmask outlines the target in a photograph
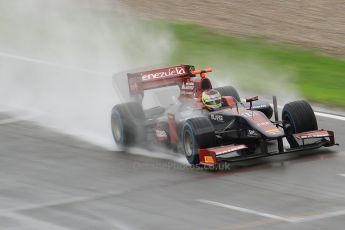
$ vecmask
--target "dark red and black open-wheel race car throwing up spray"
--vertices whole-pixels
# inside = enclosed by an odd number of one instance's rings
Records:
[[[308,102],[285,104],[278,120],[276,97],[274,108],[257,96],[241,101],[232,86],[213,88],[208,72],[212,69],[180,65],[127,73],[132,101],[115,105],[111,112],[116,144],[164,146],[184,153],[191,165],[207,167],[336,144],[332,131],[318,130]],[[167,86],[178,86],[177,101],[144,110],[145,91]],[[203,101],[211,90],[221,95],[214,110]]]

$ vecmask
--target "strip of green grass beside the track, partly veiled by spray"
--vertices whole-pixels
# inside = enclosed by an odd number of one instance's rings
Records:
[[[212,67],[213,75],[245,90],[297,93],[312,102],[345,107],[345,62],[316,52],[218,35],[195,25],[165,24],[175,47],[171,62]]]

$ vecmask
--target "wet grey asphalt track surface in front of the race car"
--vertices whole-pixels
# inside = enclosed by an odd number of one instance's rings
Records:
[[[9,120],[1,114],[1,120]],[[318,117],[345,143],[344,121]],[[191,169],[0,125],[0,229],[343,229],[344,145]]]

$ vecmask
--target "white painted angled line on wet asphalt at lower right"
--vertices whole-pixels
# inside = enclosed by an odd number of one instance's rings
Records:
[[[252,209],[242,208],[242,207],[233,206],[229,204],[223,204],[223,203],[219,203],[219,202],[211,201],[211,200],[198,199],[197,201],[204,204],[214,205],[214,206],[218,206],[222,208],[227,208],[227,209],[231,209],[231,210],[235,210],[235,211],[239,211],[243,213],[253,214],[256,216],[262,216],[269,219],[274,219],[274,220],[279,220],[279,221],[284,221],[284,222],[289,222],[289,223],[302,223],[302,222],[309,222],[309,221],[314,221],[314,220],[320,220],[320,219],[326,219],[330,217],[345,215],[345,210],[339,210],[339,211],[324,212],[324,213],[320,213],[316,215],[302,216],[302,217],[282,217],[282,216],[277,216],[270,213],[255,211]]]

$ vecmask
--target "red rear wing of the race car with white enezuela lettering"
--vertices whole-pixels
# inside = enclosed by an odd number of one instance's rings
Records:
[[[143,95],[145,90],[165,86],[178,85],[180,88],[187,78],[195,76],[192,65],[180,65],[162,69],[154,69],[138,73],[127,73],[129,92],[131,95]]]

